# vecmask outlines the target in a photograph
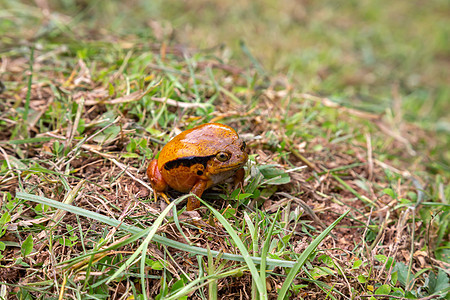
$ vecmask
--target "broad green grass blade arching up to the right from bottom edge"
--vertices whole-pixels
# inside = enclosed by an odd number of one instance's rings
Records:
[[[298,259],[295,266],[289,271],[289,274],[286,277],[286,280],[283,283],[283,286],[280,289],[278,294],[278,300],[283,300],[286,297],[286,294],[291,286],[292,282],[297,275],[298,270],[305,264],[308,257],[311,253],[319,246],[319,244],[323,241],[323,239],[331,232],[331,230],[336,227],[336,225],[350,212],[350,210],[346,211],[343,215],[341,215],[336,221],[333,222],[330,226],[327,227],[318,237],[312,241],[312,243],[303,251],[302,255]]]

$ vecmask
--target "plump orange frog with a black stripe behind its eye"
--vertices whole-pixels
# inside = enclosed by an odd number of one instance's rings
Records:
[[[232,127],[206,123],[170,140],[150,162],[147,176],[155,197],[161,195],[166,202],[169,187],[201,198],[205,190],[224,182],[232,181],[242,188],[247,160],[246,143]],[[188,211],[199,207],[196,197],[188,197]]]

